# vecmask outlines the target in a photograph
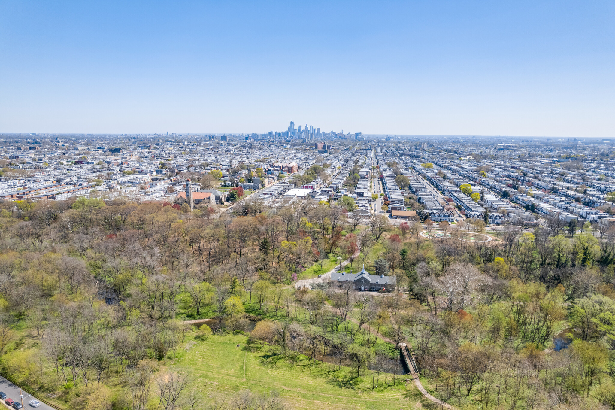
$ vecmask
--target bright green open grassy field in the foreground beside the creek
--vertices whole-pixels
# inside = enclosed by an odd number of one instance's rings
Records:
[[[205,397],[232,396],[244,389],[276,389],[290,408],[300,409],[414,409],[421,395],[403,377],[395,387],[372,390],[371,372],[355,377],[355,370],[340,371],[328,364],[311,365],[307,358],[289,362],[267,349],[245,345],[246,336],[212,336],[197,341],[178,358],[189,369],[193,386]],[[237,347],[239,344],[239,347]],[[319,362],[317,362],[319,363]],[[384,375],[381,374],[381,380]],[[399,377],[399,376],[398,376]]]

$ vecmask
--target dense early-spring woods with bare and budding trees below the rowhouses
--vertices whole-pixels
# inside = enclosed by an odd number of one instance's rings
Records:
[[[424,386],[459,408],[615,407],[608,226],[394,227],[348,200],[172,205],[2,203],[2,373],[64,408],[292,407],[275,391],[218,402],[181,365],[195,340],[250,332],[268,363],[328,366],[364,390],[404,385],[405,342]],[[420,234],[433,230],[444,239]],[[291,286],[346,260],[394,275],[395,292]],[[211,320],[183,323],[197,319]]]

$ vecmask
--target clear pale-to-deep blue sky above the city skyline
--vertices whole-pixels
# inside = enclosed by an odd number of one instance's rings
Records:
[[[0,132],[613,138],[615,2],[0,0]]]

